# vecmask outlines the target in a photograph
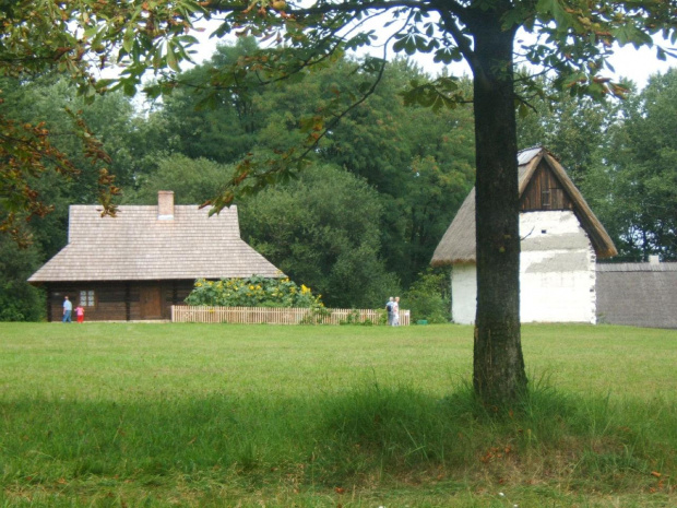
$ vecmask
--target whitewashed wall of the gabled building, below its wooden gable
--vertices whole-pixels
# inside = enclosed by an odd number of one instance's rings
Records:
[[[520,214],[522,322],[596,321],[595,251],[570,211]],[[452,271],[452,319],[475,321],[474,264]]]

